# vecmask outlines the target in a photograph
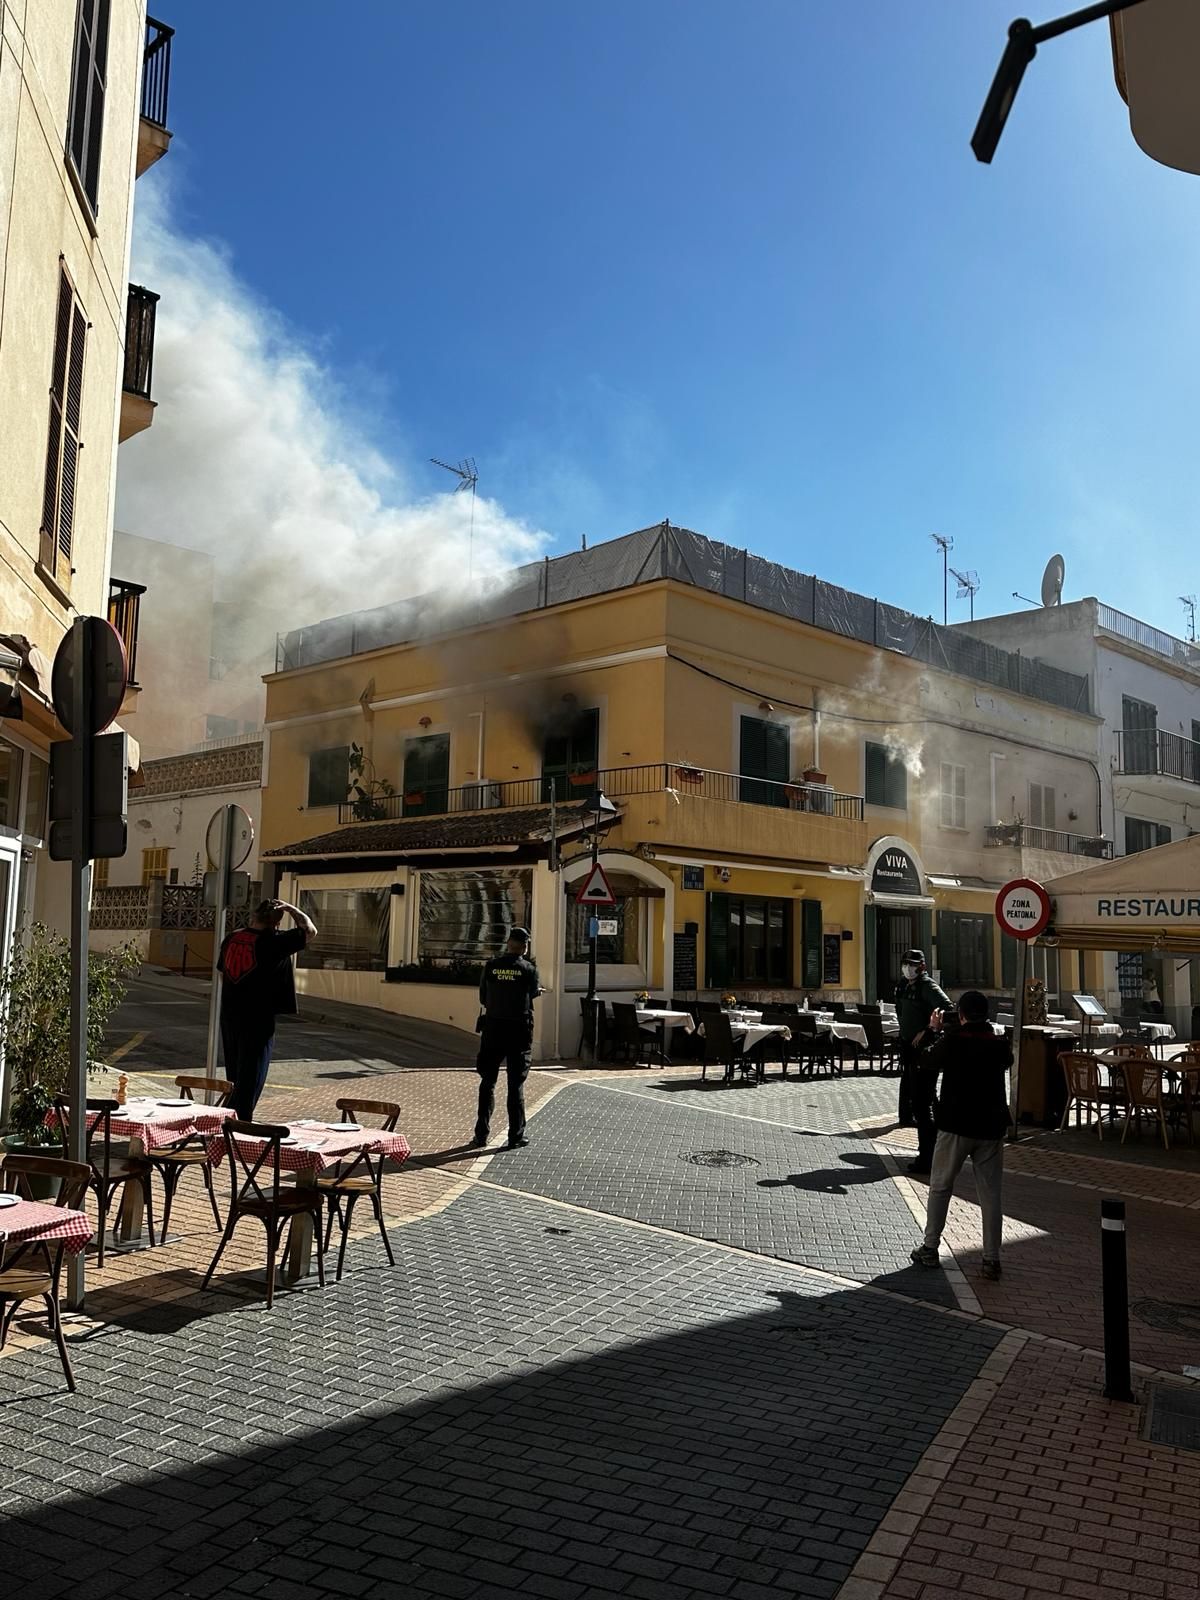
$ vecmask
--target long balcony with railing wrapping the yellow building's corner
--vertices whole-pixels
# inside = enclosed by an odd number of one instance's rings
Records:
[[[338,808],[339,822],[382,822],[462,811],[570,805],[600,790],[621,808],[627,843],[674,845],[856,866],[866,859],[862,795],[654,762],[514,782],[368,794]]]

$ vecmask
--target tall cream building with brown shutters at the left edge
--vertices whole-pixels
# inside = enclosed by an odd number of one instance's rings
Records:
[[[0,958],[66,925],[42,850],[62,738],[50,662],[109,614],[136,675],[141,589],[110,584],[118,440],[154,414],[157,296],[130,285],[134,179],[166,150],[171,29],[141,0],[0,0]],[[120,574],[118,574],[120,578]]]

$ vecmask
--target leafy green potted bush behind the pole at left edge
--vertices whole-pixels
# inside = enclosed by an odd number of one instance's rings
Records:
[[[138,963],[133,944],[88,958],[90,1072],[102,1066],[106,1029]],[[46,1117],[70,1085],[70,944],[42,923],[26,944],[14,941],[0,973],[0,1053],[11,1091],[5,1149],[45,1154],[59,1142]]]

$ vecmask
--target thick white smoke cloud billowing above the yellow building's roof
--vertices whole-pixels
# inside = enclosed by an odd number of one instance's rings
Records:
[[[411,490],[310,342],[221,243],[174,224],[162,181],[138,189],[133,277],[162,296],[158,408],[122,446],[118,528],[211,554],[218,594],[277,629],[416,594],[466,598],[470,496]],[[491,589],[546,539],[480,496],[475,582]]]

